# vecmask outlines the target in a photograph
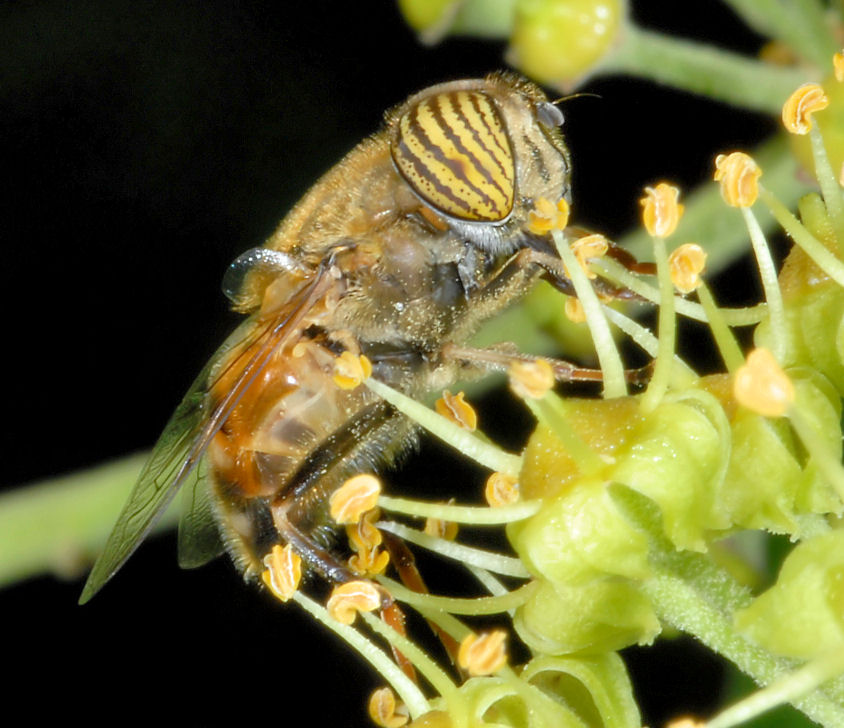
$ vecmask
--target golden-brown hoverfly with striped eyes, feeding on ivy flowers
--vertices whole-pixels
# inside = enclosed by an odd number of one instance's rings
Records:
[[[248,318],[168,422],[80,601],[201,461],[180,524],[182,565],[225,547],[254,579],[274,545],[290,544],[328,581],[354,578],[326,536],[328,498],[390,464],[415,431],[366,387],[338,388],[334,361],[364,354],[372,376],[419,397],[506,360],[466,342],[537,278],[572,293],[550,237],[527,228],[536,200],[569,197],[562,121],[538,87],[510,75],[428,88],[238,258],[224,287]],[[564,378],[590,378],[560,365]]]

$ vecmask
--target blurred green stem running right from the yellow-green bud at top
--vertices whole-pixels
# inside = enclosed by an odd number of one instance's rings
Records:
[[[779,113],[801,83],[803,68],[783,68],[722,48],[628,25],[618,48],[595,71],[629,74],[703,94],[740,108]]]

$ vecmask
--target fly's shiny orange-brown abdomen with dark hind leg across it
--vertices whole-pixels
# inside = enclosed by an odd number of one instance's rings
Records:
[[[362,468],[377,469],[406,438],[407,427],[386,426],[397,415],[366,387],[335,384],[334,358],[308,341],[281,351],[208,449],[220,528],[244,571],[259,571],[272,545],[283,542],[273,509],[284,508],[304,532],[323,529],[333,490]]]

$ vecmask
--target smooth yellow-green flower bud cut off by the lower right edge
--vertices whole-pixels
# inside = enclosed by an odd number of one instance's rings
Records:
[[[736,613],[736,627],[785,657],[844,649],[844,530],[798,544],[777,583]]]

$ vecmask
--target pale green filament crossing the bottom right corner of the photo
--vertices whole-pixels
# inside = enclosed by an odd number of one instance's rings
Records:
[[[706,725],[707,728],[732,728],[783,703],[794,703],[820,687],[827,680],[844,673],[844,645],[838,645],[822,657],[785,675],[768,687],[730,706]]]

